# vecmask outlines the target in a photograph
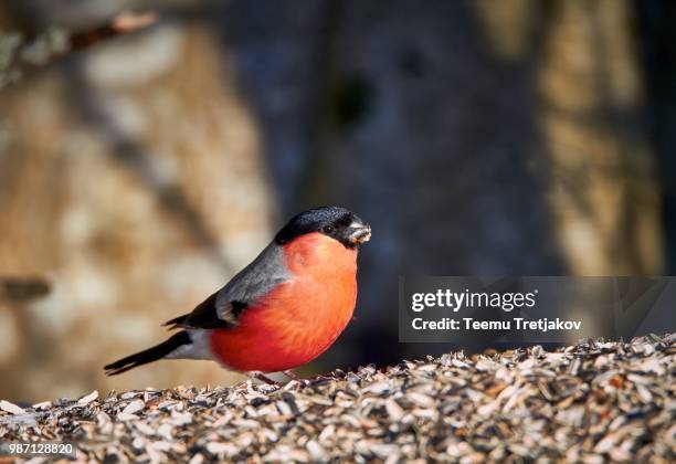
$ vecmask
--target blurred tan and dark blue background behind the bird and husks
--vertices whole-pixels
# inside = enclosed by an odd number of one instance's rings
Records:
[[[159,20],[112,33],[130,9]],[[401,274],[673,273],[674,24],[659,0],[1,2],[0,398],[233,381],[102,366],[311,205],[373,239],[305,373],[444,349],[398,344]]]

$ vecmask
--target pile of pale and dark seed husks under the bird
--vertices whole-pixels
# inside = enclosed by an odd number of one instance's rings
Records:
[[[80,460],[108,462],[674,462],[675,340],[454,352],[281,388],[3,401],[0,441],[71,440]]]

